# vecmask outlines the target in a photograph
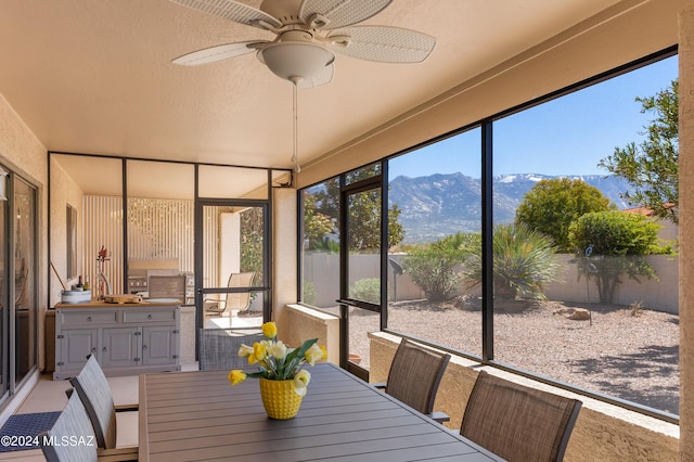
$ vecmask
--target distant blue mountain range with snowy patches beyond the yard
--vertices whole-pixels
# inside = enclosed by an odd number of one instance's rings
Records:
[[[628,208],[619,193],[627,191],[625,180],[601,175],[562,176],[522,174],[493,179],[494,222],[510,222],[525,194],[540,180],[581,179],[597,188],[617,208]],[[402,213],[399,221],[406,230],[406,244],[432,242],[457,232],[477,232],[481,223],[481,181],[463,174],[428,177],[397,177],[390,181],[388,200]]]

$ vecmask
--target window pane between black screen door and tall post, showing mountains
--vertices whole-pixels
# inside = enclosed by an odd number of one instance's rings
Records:
[[[479,355],[480,129],[388,162],[388,329]],[[478,282],[478,281],[474,281]]]

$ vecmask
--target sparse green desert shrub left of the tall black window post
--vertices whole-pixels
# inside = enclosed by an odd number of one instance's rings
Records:
[[[480,246],[479,234],[458,233],[415,247],[403,260],[404,271],[429,301],[445,301],[460,291],[462,274],[455,267]]]

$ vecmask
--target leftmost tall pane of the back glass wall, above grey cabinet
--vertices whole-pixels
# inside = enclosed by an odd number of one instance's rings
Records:
[[[50,306],[61,300],[56,288],[78,277],[89,281],[94,298],[124,293],[123,161],[53,154],[50,162]],[[65,209],[70,213],[54,211]]]

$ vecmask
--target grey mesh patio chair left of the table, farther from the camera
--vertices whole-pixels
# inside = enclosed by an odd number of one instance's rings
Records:
[[[72,377],[69,383],[75,387],[76,393],[74,395],[79,396],[85,406],[93,427],[97,446],[118,451],[126,458],[121,460],[133,460],[132,458],[137,460],[138,447],[125,447],[117,440],[118,419],[116,418],[116,407],[113,402],[106,376],[93,355],[89,356],[82,370],[77,376]],[[129,419],[128,425],[137,425],[137,412],[129,412],[128,414],[134,418]]]

